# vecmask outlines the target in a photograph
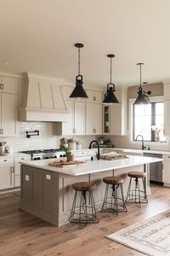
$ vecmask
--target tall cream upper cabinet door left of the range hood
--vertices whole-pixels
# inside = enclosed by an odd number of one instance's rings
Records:
[[[2,128],[3,136],[16,135],[17,99],[14,94],[2,94]]]

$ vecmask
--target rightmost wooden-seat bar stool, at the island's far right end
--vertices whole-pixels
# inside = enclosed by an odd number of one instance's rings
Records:
[[[135,204],[148,203],[148,196],[146,193],[146,173],[145,172],[128,172],[127,176],[130,177],[126,202],[133,202]],[[131,189],[132,179],[134,178],[135,188]],[[139,179],[142,179],[143,189],[140,189]]]

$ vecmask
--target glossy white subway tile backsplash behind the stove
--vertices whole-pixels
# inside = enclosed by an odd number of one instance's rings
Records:
[[[57,123],[50,122],[19,122],[17,137],[2,137],[0,140],[13,145],[14,152],[32,149],[59,148],[60,138],[56,135]],[[26,137],[26,131],[39,130],[39,136]],[[70,137],[68,137],[70,138]],[[82,143],[82,148],[88,148],[94,136],[74,137]]]

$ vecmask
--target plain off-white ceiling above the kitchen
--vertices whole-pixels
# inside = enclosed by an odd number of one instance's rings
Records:
[[[170,79],[169,0],[0,0],[0,69],[74,82],[83,43],[84,84]],[[8,63],[5,63],[8,62]]]

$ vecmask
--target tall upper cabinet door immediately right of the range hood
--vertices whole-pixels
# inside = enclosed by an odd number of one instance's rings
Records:
[[[74,102],[65,101],[66,108],[69,111],[68,121],[62,123],[62,135],[73,135],[74,129]]]

